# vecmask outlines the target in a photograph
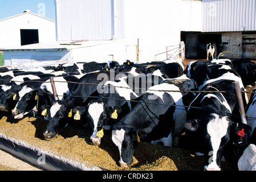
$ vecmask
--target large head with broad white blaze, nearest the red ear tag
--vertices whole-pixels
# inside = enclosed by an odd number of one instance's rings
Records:
[[[196,143],[204,146],[204,169],[220,171],[220,162],[225,144],[230,139],[231,121],[218,114],[209,114],[201,119],[191,119],[184,123],[185,129],[198,132]]]

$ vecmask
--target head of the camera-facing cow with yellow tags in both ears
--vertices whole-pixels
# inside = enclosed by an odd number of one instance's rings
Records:
[[[86,118],[88,119],[91,126],[91,140],[95,145],[100,144],[100,137],[97,137],[97,129],[101,129],[104,125],[107,125],[108,121],[111,119],[111,115],[116,112],[119,114],[121,109],[119,107],[108,106],[102,101],[92,100],[87,106],[84,107],[75,107],[72,109],[72,113],[79,115],[86,114]]]

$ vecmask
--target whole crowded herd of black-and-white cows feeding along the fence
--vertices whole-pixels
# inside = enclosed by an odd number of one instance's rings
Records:
[[[221,160],[256,170],[256,95],[248,101],[242,92],[248,118],[241,123],[233,83],[243,91],[255,81],[255,63],[229,59],[192,61],[186,68],[180,60],[3,68],[0,110],[14,119],[46,119],[47,140],[69,123],[90,127],[96,145],[109,132],[121,167],[132,164],[143,140],[203,155],[204,170],[220,170]]]

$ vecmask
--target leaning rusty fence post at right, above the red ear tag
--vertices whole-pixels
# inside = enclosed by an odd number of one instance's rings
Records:
[[[235,91],[235,98],[237,98],[237,104],[238,104],[239,111],[240,111],[239,115],[240,115],[241,123],[247,125],[247,121],[245,118],[245,108],[243,107],[243,100],[242,100],[242,95],[241,95],[241,88],[239,86],[238,81],[234,82],[234,91]]]

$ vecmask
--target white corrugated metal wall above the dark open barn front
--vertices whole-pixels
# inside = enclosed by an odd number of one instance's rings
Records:
[[[202,0],[202,32],[256,31],[256,0]]]

